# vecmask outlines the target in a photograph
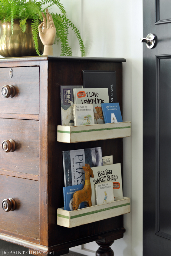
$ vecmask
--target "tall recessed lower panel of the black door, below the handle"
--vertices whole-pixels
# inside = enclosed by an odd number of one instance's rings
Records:
[[[156,56],[156,234],[171,240],[171,56]]]

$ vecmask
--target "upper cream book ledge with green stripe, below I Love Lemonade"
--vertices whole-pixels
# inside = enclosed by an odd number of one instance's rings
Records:
[[[83,141],[106,140],[131,136],[131,122],[64,126],[58,125],[57,141],[74,143]]]

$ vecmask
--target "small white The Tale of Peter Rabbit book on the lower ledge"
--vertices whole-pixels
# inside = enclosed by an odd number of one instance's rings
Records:
[[[106,204],[114,202],[113,182],[103,182],[95,185],[96,204]]]

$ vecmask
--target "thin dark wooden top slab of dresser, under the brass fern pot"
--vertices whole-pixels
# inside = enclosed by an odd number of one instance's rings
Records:
[[[72,57],[72,56],[30,56],[17,58],[0,58],[0,62],[18,62],[18,61],[92,61],[92,62],[126,62],[124,58],[97,58],[97,57]]]

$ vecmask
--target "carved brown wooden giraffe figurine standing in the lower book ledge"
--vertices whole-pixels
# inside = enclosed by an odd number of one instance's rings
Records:
[[[87,207],[92,206],[90,177],[94,178],[94,174],[89,164],[85,164],[83,170],[85,171],[85,185],[83,189],[76,191],[73,195],[73,210],[77,210],[82,202],[87,202]]]

